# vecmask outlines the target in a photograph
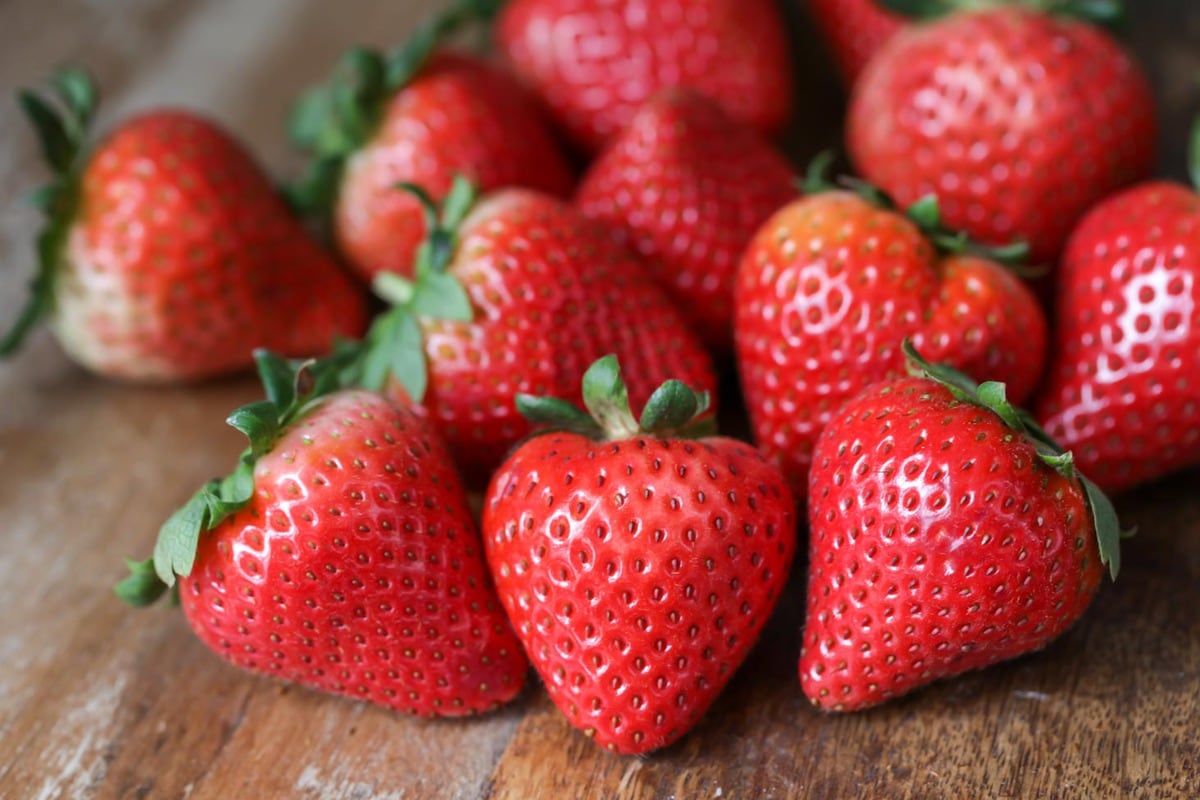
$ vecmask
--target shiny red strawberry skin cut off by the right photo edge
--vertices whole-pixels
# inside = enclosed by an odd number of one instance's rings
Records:
[[[1109,492],[1200,464],[1200,197],[1152,182],[1072,236],[1037,416]]]

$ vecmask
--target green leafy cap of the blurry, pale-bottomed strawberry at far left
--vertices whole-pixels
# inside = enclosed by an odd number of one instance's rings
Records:
[[[17,102],[37,133],[53,179],[29,196],[46,217],[37,234],[37,269],[29,300],[0,338],[0,356],[16,353],[30,331],[54,311],[54,282],[79,206],[79,175],[86,162],[88,130],[96,114],[98,91],[86,72],[66,67],[52,76],[47,91],[22,90]]]

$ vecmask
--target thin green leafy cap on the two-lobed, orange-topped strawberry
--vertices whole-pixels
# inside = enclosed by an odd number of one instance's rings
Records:
[[[966,231],[947,228],[942,224],[942,211],[936,194],[926,194],[907,209],[901,210],[892,196],[874,184],[848,175],[842,175],[836,180],[832,179],[833,162],[834,155],[830,151],[824,151],[812,160],[800,182],[800,190],[805,196],[851,191],[877,209],[906,216],[943,255],[977,255],[1001,264],[1025,278],[1045,275],[1044,267],[1032,267],[1026,264],[1030,247],[1024,241],[998,247],[990,246],[974,241]]]

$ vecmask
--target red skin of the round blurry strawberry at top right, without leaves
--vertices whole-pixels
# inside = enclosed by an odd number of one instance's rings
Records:
[[[847,146],[901,205],[936,193],[946,224],[1028,242],[1054,264],[1094,203],[1150,174],[1146,76],[1099,29],[1018,7],[895,36],[856,85]]]

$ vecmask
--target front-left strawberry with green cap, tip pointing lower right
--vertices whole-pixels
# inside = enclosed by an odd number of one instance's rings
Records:
[[[268,399],[229,417],[251,441],[238,468],[118,594],[145,604],[178,585],[218,656],[319,691],[427,716],[512,699],[527,664],[444,445],[319,363],[258,360]]]

